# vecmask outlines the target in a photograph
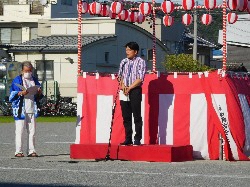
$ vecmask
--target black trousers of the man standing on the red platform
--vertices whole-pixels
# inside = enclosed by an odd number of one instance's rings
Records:
[[[140,86],[130,90],[129,101],[120,101],[122,108],[123,125],[125,127],[126,140],[132,141],[132,113],[135,123],[135,140],[142,139],[141,117],[142,88]]]

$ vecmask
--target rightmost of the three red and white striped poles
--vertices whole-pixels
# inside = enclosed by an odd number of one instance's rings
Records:
[[[222,69],[227,68],[227,1],[223,0],[223,65]]]

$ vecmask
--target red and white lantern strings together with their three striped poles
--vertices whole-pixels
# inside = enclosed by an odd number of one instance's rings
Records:
[[[129,10],[124,8],[125,5],[132,5]],[[138,8],[135,8],[135,5]],[[81,7],[81,8],[79,8]],[[186,26],[193,22],[193,16],[190,13],[193,9],[207,9],[208,13],[201,16],[201,23],[204,25],[209,25],[212,23],[212,16],[210,11],[213,9],[222,9],[223,13],[223,70],[226,69],[226,24],[233,24],[237,21],[238,16],[236,11],[247,11],[250,14],[250,0],[223,0],[222,5],[216,5],[216,0],[204,0],[204,6],[195,6],[195,0],[182,0],[182,6],[175,6],[171,0],[164,0],[160,7],[155,6],[155,0],[152,3],[149,2],[129,2],[125,0],[115,0],[110,6],[104,2],[92,2],[88,4],[85,0],[78,0],[78,19],[81,19],[81,13],[89,13],[91,15],[98,15],[104,17],[110,17],[111,19],[120,19],[122,21],[132,22],[132,23],[142,23],[146,19],[146,16],[150,16],[153,20],[153,68],[152,71],[156,71],[156,36],[155,36],[155,13],[156,11],[162,11],[165,13],[163,17],[163,24],[165,26],[172,26],[174,23],[174,18],[171,16],[174,10],[184,10],[186,13],[182,16],[182,23]],[[231,12],[227,14],[227,9]],[[81,22],[79,21],[79,24]],[[81,36],[81,28],[78,28],[78,38]],[[80,48],[80,42],[78,42]],[[80,49],[78,50],[80,51]],[[80,62],[81,56],[78,53],[78,73],[80,72]]]

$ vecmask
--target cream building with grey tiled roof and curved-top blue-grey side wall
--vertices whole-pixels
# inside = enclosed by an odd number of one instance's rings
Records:
[[[34,63],[40,81],[56,81],[62,96],[76,97],[77,33],[76,19],[51,19],[39,22],[38,33],[50,33],[37,39],[12,46],[9,52],[18,62]],[[152,35],[132,23],[110,18],[86,18],[82,23],[81,69],[85,72],[116,73],[125,57],[124,45],[136,41],[139,55],[152,70],[148,51],[152,50]],[[157,40],[157,70],[164,71],[161,62],[168,52]],[[51,93],[54,94],[53,89]]]

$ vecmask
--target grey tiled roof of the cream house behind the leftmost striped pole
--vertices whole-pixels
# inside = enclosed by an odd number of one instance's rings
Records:
[[[115,35],[82,36],[82,46],[115,37]],[[77,52],[77,42],[77,36],[48,36],[14,45],[9,49],[9,52]]]

